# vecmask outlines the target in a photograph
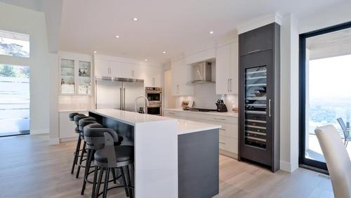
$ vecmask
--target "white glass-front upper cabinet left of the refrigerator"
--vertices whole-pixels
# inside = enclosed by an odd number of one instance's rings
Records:
[[[60,58],[60,94],[91,95],[91,61]]]

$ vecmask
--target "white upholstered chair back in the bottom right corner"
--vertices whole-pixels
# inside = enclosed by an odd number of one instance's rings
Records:
[[[335,197],[351,197],[351,161],[336,128],[329,124],[316,128]]]

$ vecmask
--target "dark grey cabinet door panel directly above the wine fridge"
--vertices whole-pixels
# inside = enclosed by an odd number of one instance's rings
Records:
[[[249,55],[273,48],[274,24],[239,34],[240,55]]]

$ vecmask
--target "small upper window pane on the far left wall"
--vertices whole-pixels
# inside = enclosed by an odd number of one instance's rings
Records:
[[[0,30],[0,55],[29,58],[29,35]]]

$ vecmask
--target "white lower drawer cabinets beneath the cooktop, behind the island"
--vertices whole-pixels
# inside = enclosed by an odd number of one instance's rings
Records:
[[[225,117],[210,114],[199,114],[194,112],[179,112],[164,110],[165,117],[175,119],[187,119],[191,121],[200,121],[209,124],[219,124],[219,148],[220,154],[234,157],[238,156],[238,119],[237,117]]]

